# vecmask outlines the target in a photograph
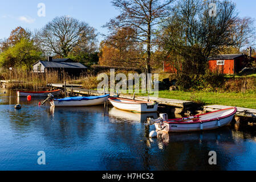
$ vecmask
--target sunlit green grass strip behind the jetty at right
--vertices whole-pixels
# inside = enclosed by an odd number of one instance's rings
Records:
[[[147,96],[147,94],[143,94]],[[162,90],[159,97],[191,101],[193,98],[205,102],[206,105],[226,105],[256,109],[256,92],[243,93],[216,93],[216,92],[184,92]]]

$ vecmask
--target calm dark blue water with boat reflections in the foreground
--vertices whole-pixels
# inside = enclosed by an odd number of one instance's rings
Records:
[[[39,107],[0,94],[0,170],[254,170],[256,129],[234,124],[203,133],[149,139],[140,115],[104,106]],[[13,94],[13,96],[10,96]],[[14,105],[22,105],[15,110]],[[255,130],[255,131],[254,131]],[[217,165],[208,164],[209,151]],[[38,151],[46,165],[37,163]]]

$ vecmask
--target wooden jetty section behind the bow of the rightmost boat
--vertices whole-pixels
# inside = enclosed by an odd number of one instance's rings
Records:
[[[204,111],[211,112],[220,109],[226,109],[232,106],[222,106],[222,105],[209,105],[204,106]],[[235,115],[249,118],[256,118],[256,109],[248,109],[245,107],[237,107],[237,113]]]

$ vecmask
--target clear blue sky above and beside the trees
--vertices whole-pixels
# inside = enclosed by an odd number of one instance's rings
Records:
[[[255,0],[232,1],[237,4],[239,16],[256,19]],[[38,16],[38,3],[46,5],[45,17]],[[61,15],[83,20],[104,34],[107,30],[101,26],[118,14],[119,11],[111,5],[111,0],[1,0],[0,39],[9,37],[11,30],[18,26],[33,31]]]

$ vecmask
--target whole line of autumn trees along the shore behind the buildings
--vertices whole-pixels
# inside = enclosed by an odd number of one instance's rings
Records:
[[[214,1],[212,6],[210,0],[113,0],[112,5],[120,14],[103,26],[109,33],[102,42],[88,23],[58,16],[34,32],[13,30],[0,43],[0,67],[31,69],[35,61],[54,56],[88,67],[135,67],[143,72],[168,61],[177,75],[201,75],[209,56],[254,46],[254,20],[239,17],[231,1]]]

